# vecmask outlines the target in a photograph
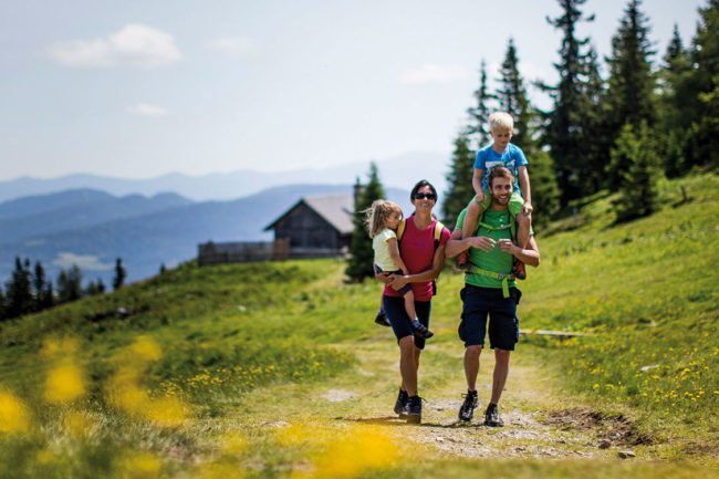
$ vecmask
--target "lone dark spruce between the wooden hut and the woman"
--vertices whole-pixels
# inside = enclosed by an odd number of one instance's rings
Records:
[[[361,282],[365,278],[374,277],[374,251],[372,249],[372,239],[367,235],[367,228],[365,227],[364,211],[372,206],[374,200],[381,198],[385,198],[385,191],[379,183],[377,165],[372,163],[367,175],[367,184],[362,187],[357,195],[352,220],[354,230],[350,243],[350,259],[345,269],[345,274],[351,281]]]

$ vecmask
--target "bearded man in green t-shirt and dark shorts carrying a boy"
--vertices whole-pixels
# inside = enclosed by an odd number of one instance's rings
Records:
[[[484,412],[484,425],[500,427],[504,424],[499,415],[498,404],[509,374],[509,356],[519,341],[517,304],[521,292],[511,274],[514,257],[525,264],[536,267],[540,261],[534,237],[522,249],[513,243],[514,218],[508,209],[514,178],[504,167],[496,167],[489,176],[491,206],[480,219],[476,236],[461,238],[461,225],[466,210],[459,218],[446,253],[451,258],[469,250],[469,270],[465,275],[462,321],[459,337],[465,342],[465,376],[467,395],[459,409],[460,420],[471,420],[479,400],[477,397],[477,374],[479,355],[484,347],[487,317],[489,316],[489,344],[494,350],[494,374],[492,397]]]

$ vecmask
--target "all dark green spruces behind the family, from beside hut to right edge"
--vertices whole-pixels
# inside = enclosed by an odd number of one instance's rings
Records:
[[[675,24],[660,60],[642,0],[629,0],[604,62],[591,39],[577,35],[582,22],[594,20],[582,11],[586,0],[558,1],[562,13],[546,21],[562,33],[553,64],[559,81],[534,83],[549,94],[550,108],[530,102],[513,39],[508,40],[494,91],[488,85],[486,61],[480,62],[473,104],[454,139],[441,208],[447,226],[454,226],[475,196],[475,155],[489,144],[493,111],[514,118],[512,143],[530,162],[532,221],[539,228],[598,191],[618,194],[613,204],[618,221],[650,215],[657,209],[661,177],[696,168],[716,170],[719,165],[719,0],[699,9],[688,46]],[[384,198],[384,189],[372,164],[355,204],[345,271],[353,281],[374,274],[372,241],[361,211],[378,198]]]

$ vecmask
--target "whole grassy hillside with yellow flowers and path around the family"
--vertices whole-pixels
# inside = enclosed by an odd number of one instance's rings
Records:
[[[719,477],[718,187],[668,183],[618,226],[598,198],[540,237],[522,329],[591,335],[520,343],[501,430],[456,423],[460,275],[433,305],[424,427],[397,427],[377,285],[335,260],[185,264],[0,325],[0,476]]]

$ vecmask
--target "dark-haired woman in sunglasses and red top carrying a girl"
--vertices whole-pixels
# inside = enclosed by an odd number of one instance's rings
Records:
[[[437,190],[426,179],[411,189],[411,204],[415,212],[406,220],[399,253],[409,274],[392,274],[376,278],[386,283],[382,303],[399,344],[399,374],[402,386],[395,404],[395,413],[406,417],[407,423],[421,423],[421,398],[417,393],[417,369],[419,354],[425,348],[425,340],[413,334],[410,317],[405,310],[402,294],[397,292],[405,284],[411,284],[415,294],[415,309],[419,322],[429,327],[434,279],[439,275],[445,262],[445,246],[450,232],[441,229],[438,244],[435,243],[437,220],[431,210],[437,205]]]

